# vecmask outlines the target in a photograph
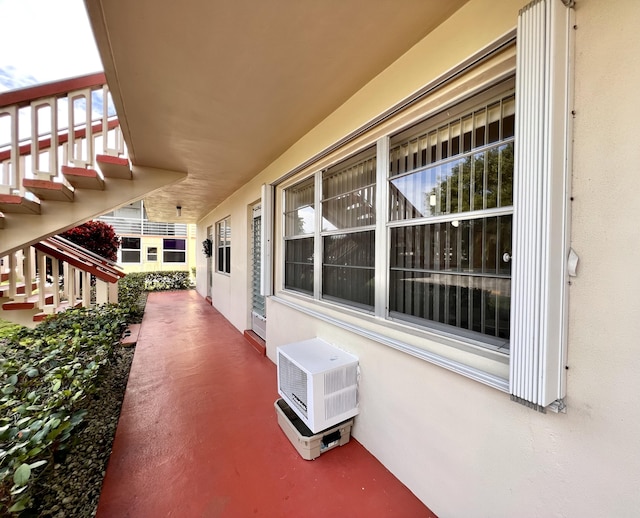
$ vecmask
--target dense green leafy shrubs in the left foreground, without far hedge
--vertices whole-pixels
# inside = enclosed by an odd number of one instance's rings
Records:
[[[0,341],[0,515],[31,505],[31,482],[82,423],[128,316],[118,305],[70,309]]]

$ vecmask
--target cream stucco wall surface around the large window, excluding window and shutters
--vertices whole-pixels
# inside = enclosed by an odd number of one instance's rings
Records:
[[[260,184],[512,28],[523,5],[472,0],[392,65],[393,73],[363,88],[199,223],[201,241],[208,225],[231,215],[232,273],[214,274],[213,303],[233,325],[248,327],[247,215]],[[480,22],[489,16],[495,24]],[[271,358],[277,345],[310,336],[358,355],[361,413],[354,436],[439,516],[640,512],[639,19],[637,0],[576,5],[571,244],[580,263],[570,288],[566,414],[532,411],[498,390],[268,301]],[[454,29],[467,37],[441,48],[435,62],[435,43]],[[408,79],[401,83],[397,72],[405,69]],[[202,258],[198,268],[204,296]]]

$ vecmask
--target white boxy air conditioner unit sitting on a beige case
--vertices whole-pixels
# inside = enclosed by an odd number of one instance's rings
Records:
[[[313,338],[278,347],[278,393],[313,433],[358,413],[358,358]]]

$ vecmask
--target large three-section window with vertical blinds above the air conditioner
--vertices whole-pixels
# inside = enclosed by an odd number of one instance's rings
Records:
[[[511,80],[286,188],[285,289],[508,352],[514,124]]]

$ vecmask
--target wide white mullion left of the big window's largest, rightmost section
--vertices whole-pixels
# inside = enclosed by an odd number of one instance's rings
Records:
[[[376,142],[376,230],[375,230],[375,307],[376,317],[388,315],[387,298],[389,293],[389,137]]]

